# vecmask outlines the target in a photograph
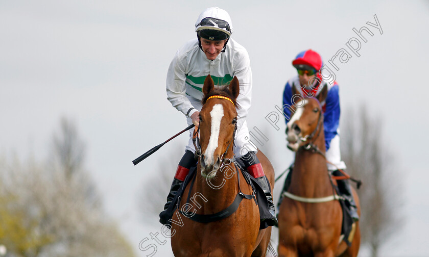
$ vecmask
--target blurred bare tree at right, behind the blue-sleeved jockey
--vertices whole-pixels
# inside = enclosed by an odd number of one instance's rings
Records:
[[[341,129],[342,158],[347,172],[363,179],[361,201],[362,243],[371,256],[397,233],[403,224],[398,167],[391,148],[384,142],[380,118],[371,118],[365,108],[348,110]]]

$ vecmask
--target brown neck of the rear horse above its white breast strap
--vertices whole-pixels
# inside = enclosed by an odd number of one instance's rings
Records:
[[[321,152],[325,153],[325,136],[323,125],[321,133],[313,142]],[[296,152],[295,165],[292,172],[290,192],[303,197],[322,197],[332,193],[326,167],[326,159],[320,153],[300,147]]]

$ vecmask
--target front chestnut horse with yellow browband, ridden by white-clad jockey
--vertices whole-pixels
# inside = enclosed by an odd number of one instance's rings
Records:
[[[172,219],[171,246],[175,256],[265,256],[269,248],[271,227],[259,230],[253,190],[231,162],[239,91],[236,77],[223,89],[214,88],[210,75],[205,79],[196,177],[186,186]],[[257,157],[274,185],[270,161],[260,151]],[[193,220],[198,215],[222,213],[242,194],[250,197],[242,198],[235,212],[224,212],[225,218],[211,222]],[[190,200],[185,203],[187,196]]]

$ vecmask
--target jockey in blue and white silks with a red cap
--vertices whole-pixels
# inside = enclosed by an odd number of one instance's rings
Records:
[[[336,81],[328,83],[322,79],[320,74],[323,67],[322,58],[312,49],[305,50],[299,53],[292,65],[297,69],[298,75],[290,79],[283,92],[283,106],[292,106],[292,88],[295,88],[304,97],[317,96],[322,88],[326,85],[328,94],[324,102],[321,102],[323,111],[323,127],[325,133],[326,160],[329,172],[335,176],[341,176],[342,173],[338,169],[346,169],[346,165],[341,161],[340,154],[340,96],[339,86]],[[316,78],[317,77],[317,78]],[[322,85],[319,83],[322,82]],[[291,118],[291,111],[284,108],[286,123]],[[331,164],[330,164],[331,163]],[[291,183],[292,166],[289,169],[288,176],[284,181],[283,190],[281,192],[277,207],[280,206],[283,192],[287,191]],[[340,193],[347,199],[350,214],[354,220],[359,220],[359,215],[356,211],[356,203],[354,202],[351,188],[348,179],[337,181]]]

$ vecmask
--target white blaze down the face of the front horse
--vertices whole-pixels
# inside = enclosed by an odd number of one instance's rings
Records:
[[[204,152],[204,162],[207,165],[214,164],[213,154],[214,150],[218,147],[219,132],[221,130],[221,120],[224,116],[223,106],[220,104],[214,105],[210,111],[211,116],[211,130],[210,139],[208,140],[207,148]]]

